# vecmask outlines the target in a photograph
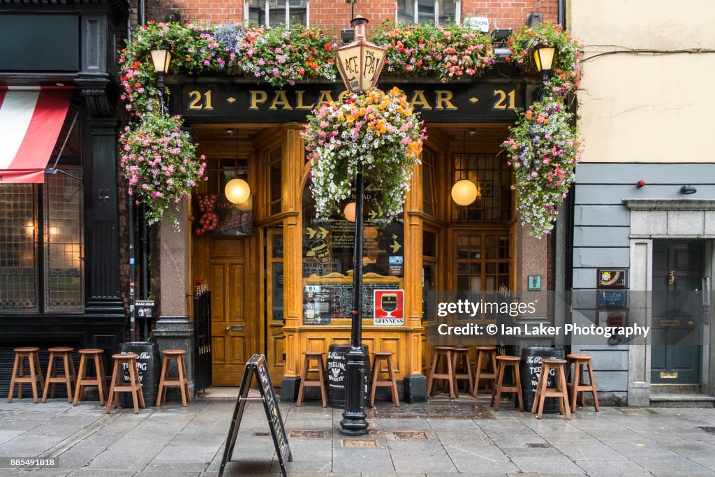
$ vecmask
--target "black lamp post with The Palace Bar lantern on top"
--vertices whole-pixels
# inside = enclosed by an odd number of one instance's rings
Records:
[[[337,67],[345,87],[353,93],[370,91],[380,77],[385,64],[385,51],[365,39],[368,19],[356,16],[350,21],[355,29],[355,41],[335,51]],[[363,172],[355,176],[355,255],[352,266],[352,325],[350,351],[345,358],[345,412],[340,421],[344,436],[368,433],[365,421],[365,365],[368,356],[363,350]]]

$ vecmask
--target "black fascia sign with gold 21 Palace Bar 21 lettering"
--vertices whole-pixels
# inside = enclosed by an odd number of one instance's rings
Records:
[[[379,86],[389,89],[393,85]],[[521,84],[399,84],[398,87],[428,122],[513,122],[516,110],[526,102]],[[283,88],[184,84],[181,88],[181,94],[174,91],[174,111],[180,109],[189,120],[227,122],[304,122],[312,109],[342,101],[349,94],[342,84]]]

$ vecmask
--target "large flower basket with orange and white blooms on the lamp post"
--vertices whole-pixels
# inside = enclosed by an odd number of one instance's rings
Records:
[[[363,172],[374,202],[387,218],[403,211],[425,139],[419,115],[397,88],[352,94],[317,109],[303,132],[312,161],[311,192],[319,217],[337,212]]]

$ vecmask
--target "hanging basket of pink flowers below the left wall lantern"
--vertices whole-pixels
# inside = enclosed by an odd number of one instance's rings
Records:
[[[196,159],[196,148],[182,129],[178,116],[148,113],[134,127],[125,127],[119,137],[122,172],[129,182],[129,195],[147,205],[149,224],[166,214],[178,228],[179,204],[204,174],[206,162]]]

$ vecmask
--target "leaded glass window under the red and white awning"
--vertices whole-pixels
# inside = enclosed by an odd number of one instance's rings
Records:
[[[69,134],[70,109],[59,138]],[[83,200],[79,122],[44,184],[0,185],[0,311],[84,310]],[[54,166],[60,147],[51,156]]]

